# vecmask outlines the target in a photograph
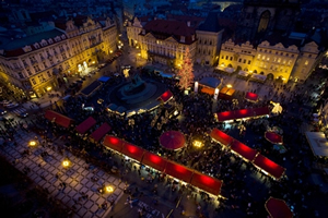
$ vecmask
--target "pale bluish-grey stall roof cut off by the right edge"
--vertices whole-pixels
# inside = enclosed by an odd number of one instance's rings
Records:
[[[305,132],[307,142],[315,156],[328,157],[328,141],[323,132]]]

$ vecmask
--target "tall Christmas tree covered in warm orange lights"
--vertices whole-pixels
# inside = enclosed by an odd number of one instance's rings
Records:
[[[184,56],[184,62],[181,64],[181,69],[178,71],[177,76],[179,76],[179,86],[181,89],[188,89],[188,87],[194,82],[194,63],[189,57],[189,48],[186,49],[186,53]]]

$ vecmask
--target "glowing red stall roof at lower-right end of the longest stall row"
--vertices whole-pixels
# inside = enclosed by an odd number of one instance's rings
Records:
[[[221,192],[222,181],[207,174],[202,174],[198,171],[194,171],[191,185],[213,195],[219,195]]]

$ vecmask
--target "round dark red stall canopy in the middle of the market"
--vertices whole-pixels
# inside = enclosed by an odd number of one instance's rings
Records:
[[[160,144],[166,149],[176,150],[186,145],[186,138],[181,132],[167,131],[160,136]]]

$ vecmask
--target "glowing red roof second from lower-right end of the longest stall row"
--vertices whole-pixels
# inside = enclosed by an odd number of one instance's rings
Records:
[[[190,183],[192,177],[191,169],[168,160],[165,167],[165,173],[187,183]]]

